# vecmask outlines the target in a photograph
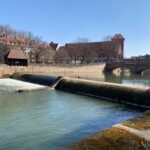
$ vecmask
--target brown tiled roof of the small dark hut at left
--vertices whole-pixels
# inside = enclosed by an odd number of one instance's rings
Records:
[[[8,59],[28,59],[25,53],[22,50],[10,50],[8,55]]]

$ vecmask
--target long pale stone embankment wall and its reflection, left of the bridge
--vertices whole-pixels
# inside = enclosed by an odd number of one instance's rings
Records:
[[[75,78],[80,77],[86,79],[104,80],[104,67],[105,64],[93,64],[86,66],[30,65],[28,67],[0,65],[0,77],[18,72],[22,74],[68,76]]]

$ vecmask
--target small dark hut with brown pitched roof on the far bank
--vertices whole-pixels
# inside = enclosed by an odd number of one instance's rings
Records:
[[[28,57],[22,50],[10,50],[5,56],[5,63],[10,66],[28,66]]]

